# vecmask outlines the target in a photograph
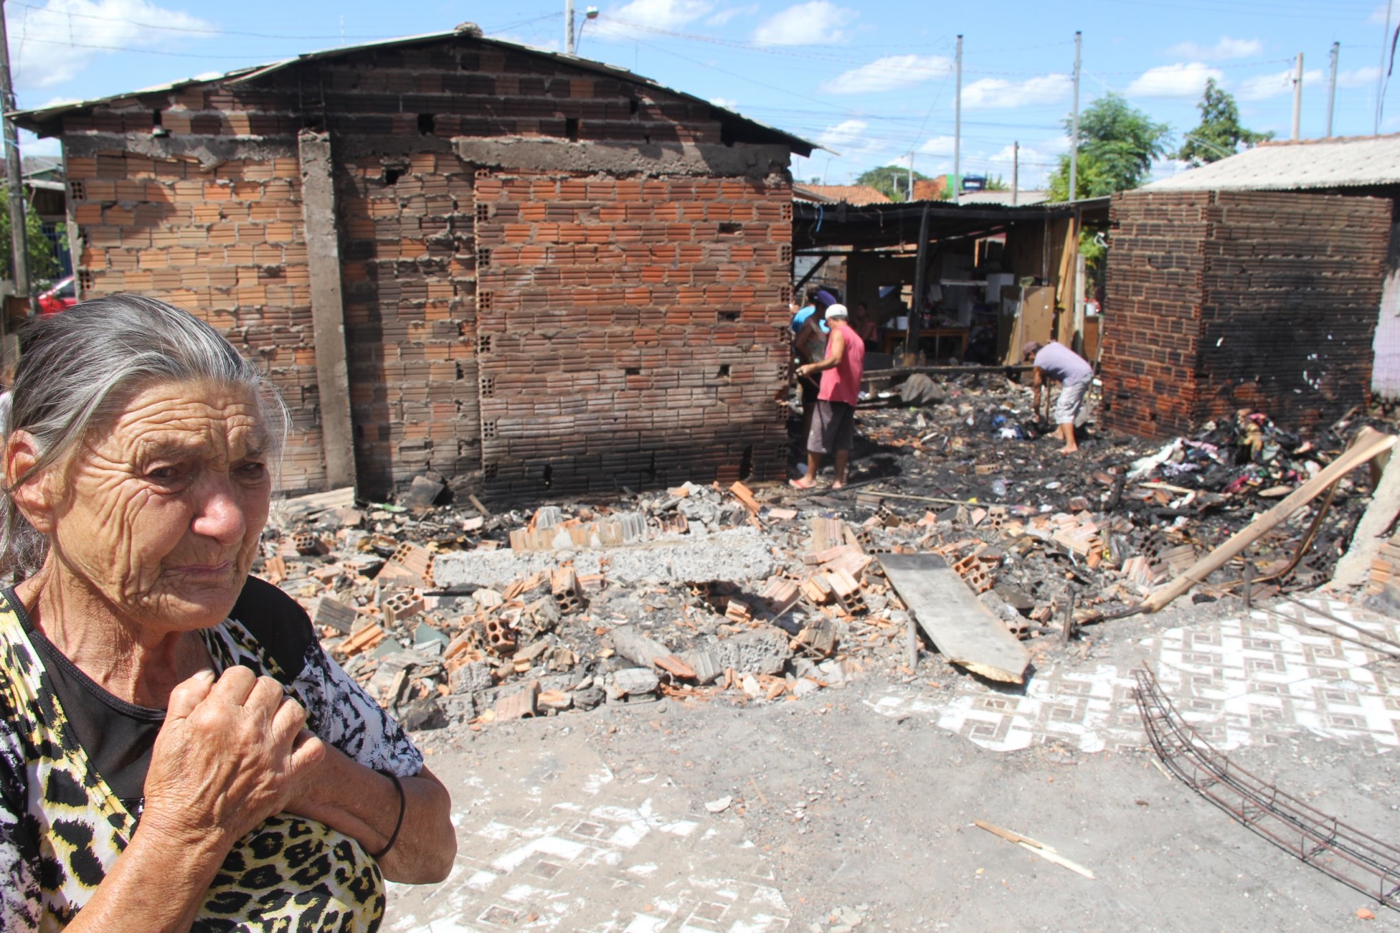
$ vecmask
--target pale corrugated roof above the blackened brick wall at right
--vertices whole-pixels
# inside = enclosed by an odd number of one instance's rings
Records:
[[[1152,182],[1142,190],[1295,190],[1375,185],[1400,185],[1400,134],[1264,143]]]

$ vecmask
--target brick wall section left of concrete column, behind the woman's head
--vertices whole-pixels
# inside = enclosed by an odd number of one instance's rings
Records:
[[[283,485],[323,484],[295,157],[204,169],[196,159],[134,152],[70,155],[67,178],[83,234],[83,294],[161,298],[265,365],[291,411]]]

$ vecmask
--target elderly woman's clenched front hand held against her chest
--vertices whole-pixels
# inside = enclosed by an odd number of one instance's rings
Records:
[[[307,712],[272,677],[230,667],[202,671],[171,691],[146,775],[139,832],[214,836],[232,845],[281,813],[325,744],[304,733]]]

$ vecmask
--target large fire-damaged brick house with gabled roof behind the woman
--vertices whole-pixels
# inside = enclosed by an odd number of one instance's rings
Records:
[[[62,140],[83,297],[269,368],[287,491],[784,469],[794,136],[475,27],[17,119]]]

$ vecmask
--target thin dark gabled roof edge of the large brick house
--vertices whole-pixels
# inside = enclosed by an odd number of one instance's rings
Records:
[[[619,66],[615,66],[615,64],[605,64],[602,62],[594,62],[592,59],[581,59],[581,57],[573,56],[573,55],[563,55],[560,52],[549,52],[547,49],[536,49],[536,48],[528,46],[528,45],[519,45],[519,43],[515,43],[515,42],[507,42],[504,39],[490,39],[490,38],[483,36],[480,34],[480,29],[477,29],[475,24],[469,24],[469,22],[463,22],[462,25],[459,25],[458,28],[452,29],[451,32],[428,32],[428,34],[424,34],[424,35],[403,36],[403,38],[398,38],[398,39],[381,39],[378,42],[365,42],[365,43],[361,43],[361,45],[351,45],[351,46],[339,46],[339,48],[335,48],[335,49],[323,49],[321,52],[305,52],[302,55],[298,55],[298,56],[294,56],[294,57],[290,57],[290,59],[283,59],[281,62],[273,62],[270,64],[259,64],[259,66],[252,66],[252,67],[234,69],[232,71],[225,71],[223,74],[200,74],[200,76],[196,76],[196,77],[192,77],[192,78],[183,78],[183,80],[179,80],[179,81],[172,81],[169,84],[161,84],[161,85],[155,85],[155,87],[141,88],[139,91],[127,91],[125,94],[112,94],[112,95],[108,95],[108,97],[92,98],[90,101],[64,101],[62,104],[52,104],[49,106],[35,108],[32,111],[15,111],[10,116],[14,117],[14,120],[17,123],[20,123],[20,126],[24,126],[28,130],[38,131],[38,129],[39,129],[41,124],[49,123],[53,119],[56,119],[59,116],[63,116],[64,113],[69,113],[69,112],[73,112],[73,111],[81,111],[81,109],[85,109],[85,108],[90,108],[90,106],[97,106],[98,104],[108,104],[108,102],[112,102],[112,101],[120,101],[120,99],[125,99],[125,98],[137,97],[140,94],[161,94],[161,92],[178,91],[181,88],[192,87],[192,85],[196,85],[196,84],[242,84],[242,83],[246,83],[246,81],[253,81],[253,80],[256,80],[259,77],[263,77],[263,76],[267,76],[267,74],[273,74],[276,71],[281,71],[283,69],[287,69],[287,67],[291,67],[294,64],[304,63],[304,62],[318,62],[318,60],[322,60],[322,59],[333,59],[336,56],[351,55],[351,53],[356,53],[356,52],[364,52],[364,50],[370,50],[370,49],[384,49],[384,48],[393,48],[393,46],[402,46],[402,45],[419,45],[419,43],[426,43],[426,42],[444,42],[444,41],[448,41],[448,39],[455,39],[455,38],[462,38],[462,36],[470,38],[470,39],[473,39],[476,42],[484,42],[487,45],[494,45],[494,46],[500,46],[503,49],[510,49],[512,52],[526,52],[526,53],[538,56],[538,57],[553,59],[553,60],[557,60],[557,62],[563,62],[563,63],[568,64],[570,67],[581,69],[584,71],[594,71],[594,73],[598,73],[598,74],[606,74],[608,77],[615,77],[619,81],[629,81],[631,84],[641,84],[641,85],[645,85],[645,87],[655,88],[658,91],[664,91],[666,94],[673,94],[676,97],[685,98],[685,99],[692,101],[694,104],[704,104],[706,106],[710,106],[710,108],[714,108],[715,111],[720,111],[721,113],[732,116],[735,120],[738,120],[741,123],[748,123],[749,126],[753,126],[753,127],[757,127],[757,129],[764,130],[767,133],[773,133],[773,134],[778,136],[784,143],[787,143],[788,145],[791,145],[792,150],[797,151],[801,155],[811,155],[812,150],[822,148],[816,143],[811,143],[808,140],[804,140],[802,137],[794,136],[792,133],[788,133],[787,130],[780,130],[776,126],[769,126],[767,123],[760,123],[759,120],[755,120],[752,117],[743,116],[742,113],[738,113],[738,112],[731,111],[728,108],[717,106],[717,105],[711,104],[710,101],[706,101],[703,98],[694,97],[693,94],[686,94],[685,91],[678,91],[675,88],[668,88],[666,85],[664,85],[664,84],[661,84],[658,81],[654,81],[651,78],[647,78],[647,77],[643,77],[643,76],[636,74],[633,71],[629,71],[627,69],[623,69],[623,67],[619,67]]]

